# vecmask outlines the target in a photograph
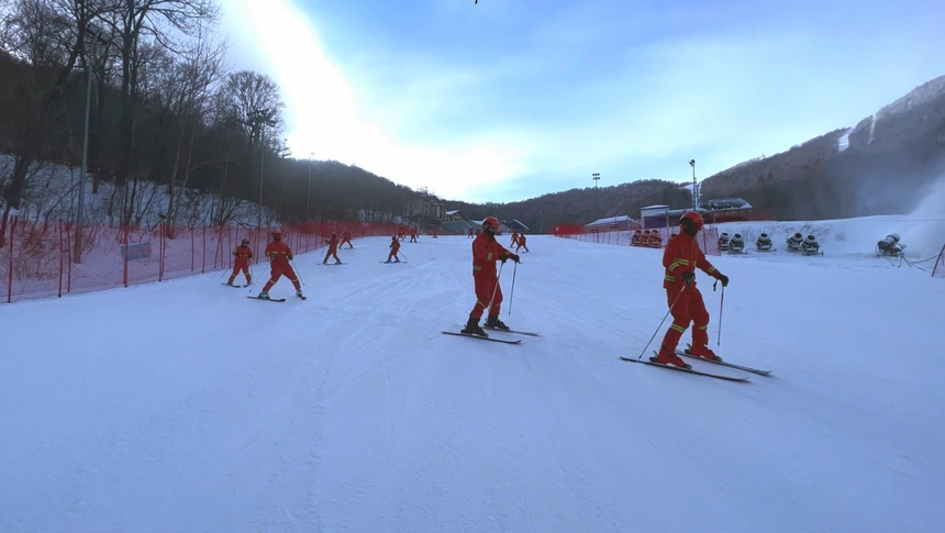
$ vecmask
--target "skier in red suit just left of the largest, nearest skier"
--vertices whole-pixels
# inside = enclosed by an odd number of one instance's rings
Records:
[[[489,318],[486,320],[486,326],[497,330],[509,330],[504,322],[499,320],[499,309],[502,304],[502,289],[499,287],[499,276],[496,271],[496,262],[505,263],[507,259],[512,259],[519,263],[518,254],[513,254],[503,248],[496,241],[496,233],[499,231],[499,221],[494,216],[489,216],[482,221],[482,231],[472,241],[472,280],[476,284],[476,306],[469,313],[469,320],[466,321],[466,327],[463,333],[471,333],[474,335],[486,336],[482,327],[479,327],[479,319],[489,311]],[[490,307],[491,306],[491,307]]]

